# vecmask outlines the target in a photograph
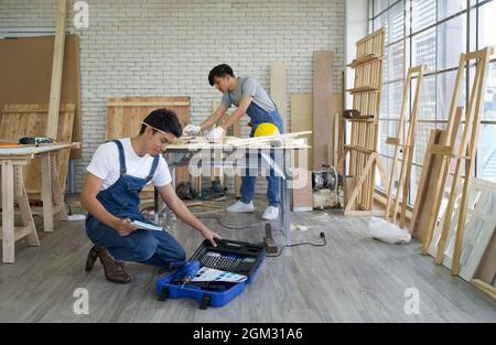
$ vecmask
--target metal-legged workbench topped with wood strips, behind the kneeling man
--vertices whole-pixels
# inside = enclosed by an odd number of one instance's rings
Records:
[[[257,138],[255,138],[257,139]],[[308,150],[310,147],[304,142],[302,139],[294,139],[294,138],[284,138],[280,140],[279,147],[273,147],[269,142],[260,142],[257,140],[254,141],[242,141],[240,138],[234,138],[234,137],[227,137],[224,139],[223,142],[219,143],[209,143],[204,140],[185,140],[179,143],[172,143],[166,148],[166,151],[164,152],[165,160],[168,161],[168,165],[171,169],[172,180],[175,186],[175,168],[177,166],[185,166],[188,165],[190,160],[197,159],[197,154],[201,154],[202,159],[205,159],[206,155],[212,157],[218,157],[218,153],[223,153],[223,159],[213,159],[211,162],[213,162],[214,168],[222,168],[222,169],[233,169],[233,166],[229,164],[231,162],[228,162],[226,165],[226,155],[233,155],[235,152],[239,149],[249,149],[250,153],[255,152],[257,154],[260,154],[263,160],[268,164],[268,157],[269,152],[274,152],[274,160],[273,160],[273,169],[277,176],[281,176],[282,181],[280,183],[280,212],[279,212],[279,220],[281,225],[281,231],[284,234],[284,241],[285,245],[291,244],[291,193],[290,190],[292,187],[292,171],[291,171],[291,153],[295,153],[300,150]],[[238,152],[239,153],[239,152]],[[229,159],[228,159],[229,160]],[[239,161],[245,161],[244,159],[239,159]],[[270,165],[272,166],[272,165]],[[236,166],[236,170],[245,170],[245,169],[258,169],[258,166]],[[206,170],[209,171],[211,166],[206,166]],[[191,173],[191,169],[190,169]],[[306,181],[306,180],[305,180]],[[155,200],[158,197],[158,194],[155,193]],[[157,202],[155,202],[157,205]],[[166,207],[166,206],[165,206]],[[155,207],[155,220],[158,220],[158,209]]]

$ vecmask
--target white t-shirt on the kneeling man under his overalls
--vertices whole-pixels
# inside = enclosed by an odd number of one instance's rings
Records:
[[[122,143],[125,151],[126,173],[130,176],[147,179],[153,163],[153,157],[150,154],[139,157],[134,152],[134,149],[132,149],[130,138],[120,139],[119,141]],[[104,180],[101,191],[107,190],[116,183],[120,177],[119,149],[117,144],[111,141],[100,144],[86,170],[98,179]],[[172,177],[168,163],[161,155],[155,173],[149,183],[153,183],[153,185],[160,187],[171,182]]]

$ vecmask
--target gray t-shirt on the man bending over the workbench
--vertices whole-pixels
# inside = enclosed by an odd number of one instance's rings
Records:
[[[238,107],[241,97],[250,96],[254,97],[252,101],[263,110],[268,112],[276,110],[276,105],[272,99],[270,99],[269,95],[267,95],[256,78],[241,77],[238,80],[238,87],[234,91],[227,91],[223,95],[223,105],[227,107],[235,105]]]

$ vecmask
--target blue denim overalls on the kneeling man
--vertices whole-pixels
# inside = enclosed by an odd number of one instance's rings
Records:
[[[131,220],[144,219],[139,212],[140,192],[153,177],[160,157],[153,159],[152,168],[147,179],[129,176],[126,174],[126,159],[122,143],[114,142],[119,148],[120,177],[115,184],[97,195],[97,200],[105,209],[114,216]],[[168,231],[153,231],[138,229],[128,236],[120,236],[116,229],[88,215],[86,233],[89,239],[98,247],[106,247],[117,260],[136,261],[144,265],[158,266],[168,269],[184,266],[186,254],[181,245]]]

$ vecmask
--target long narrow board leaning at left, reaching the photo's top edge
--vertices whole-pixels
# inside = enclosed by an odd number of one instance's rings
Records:
[[[64,66],[65,26],[67,17],[67,1],[57,2],[57,22],[55,46],[52,64],[52,86],[50,90],[48,121],[46,137],[58,139],[58,108],[61,106],[62,68]]]

